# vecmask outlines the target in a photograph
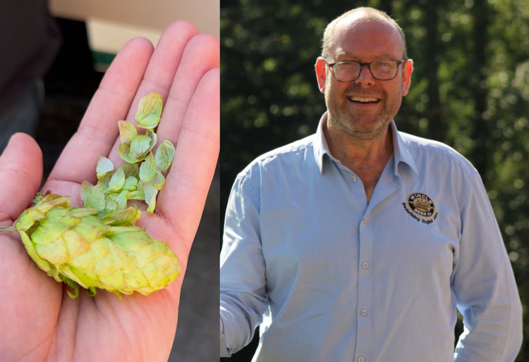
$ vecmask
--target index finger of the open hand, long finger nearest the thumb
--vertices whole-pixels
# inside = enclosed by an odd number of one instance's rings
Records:
[[[118,120],[127,116],[151,54],[152,44],[142,38],[131,40],[118,52],[77,132],[52,170],[47,182],[49,189],[59,187],[61,182],[79,184],[95,180],[97,159],[108,156],[116,142]]]

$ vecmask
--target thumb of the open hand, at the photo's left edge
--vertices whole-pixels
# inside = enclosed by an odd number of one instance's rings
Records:
[[[0,221],[15,220],[42,182],[42,151],[29,135],[16,133],[0,156]]]

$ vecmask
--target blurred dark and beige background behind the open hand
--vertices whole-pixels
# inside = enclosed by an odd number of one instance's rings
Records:
[[[47,177],[118,49],[133,37],[157,44],[176,20],[218,38],[219,1],[2,0],[0,20],[0,152],[13,132],[32,134]],[[171,362],[218,358],[219,230],[217,167],[190,251]]]

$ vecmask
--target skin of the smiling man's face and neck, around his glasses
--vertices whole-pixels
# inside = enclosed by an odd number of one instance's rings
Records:
[[[336,25],[334,46],[327,61],[401,60],[403,41],[398,30],[379,19],[355,13]],[[408,94],[412,61],[399,66],[393,80],[375,80],[363,67],[352,82],[339,82],[318,58],[315,65],[320,92],[325,95],[327,120],[323,130],[332,156],[362,180],[369,203],[377,181],[393,152],[389,123]],[[361,103],[351,99],[377,99]]]

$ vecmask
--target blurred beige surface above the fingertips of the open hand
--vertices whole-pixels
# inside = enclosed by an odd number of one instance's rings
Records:
[[[220,36],[219,0],[49,0],[54,16],[87,23],[90,46],[116,53],[133,37],[156,44],[164,28],[188,20],[200,32]]]

